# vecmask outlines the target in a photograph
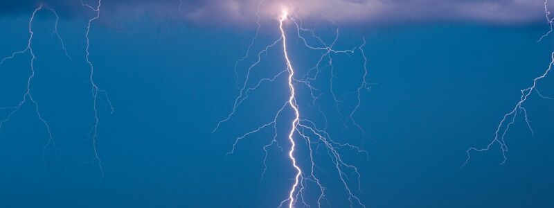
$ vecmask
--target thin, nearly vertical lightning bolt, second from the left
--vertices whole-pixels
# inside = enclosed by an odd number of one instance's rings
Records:
[[[91,93],[93,96],[93,110],[94,110],[94,125],[91,127],[91,130],[89,132],[89,135],[92,139],[92,146],[93,146],[93,152],[94,152],[94,158],[91,163],[97,163],[98,168],[100,168],[100,178],[104,177],[104,168],[102,167],[102,159],[100,159],[100,156],[98,155],[98,125],[100,122],[100,119],[98,119],[98,94],[103,94],[105,101],[107,105],[110,108],[110,114],[114,113],[114,106],[111,105],[111,101],[109,101],[109,96],[105,90],[99,89],[98,85],[94,83],[94,66],[89,58],[90,52],[90,39],[89,39],[89,33],[91,31],[91,24],[93,21],[96,21],[96,19],[100,18],[100,6],[102,6],[102,0],[98,0],[98,3],[96,6],[91,6],[88,3],[84,3],[84,1],[81,0],[81,5],[86,6],[93,12],[95,12],[96,15],[94,15],[91,19],[89,19],[89,22],[87,24],[87,33],[85,33],[84,37],[87,40],[87,46],[85,48],[85,59],[87,60],[87,64],[89,64],[90,68],[90,83],[91,83]]]

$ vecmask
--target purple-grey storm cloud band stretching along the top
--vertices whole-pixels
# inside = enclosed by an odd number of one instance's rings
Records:
[[[78,0],[45,1],[70,16],[82,15],[83,8]],[[93,5],[97,0],[85,2]],[[37,0],[8,1],[0,5],[0,12],[28,12],[38,3]],[[283,8],[305,19],[332,19],[341,24],[414,21],[528,24],[546,21],[542,0],[265,0],[261,4],[259,0],[102,0],[103,10],[118,15],[148,14],[215,24],[250,24],[255,21],[257,12],[262,21],[276,19]]]

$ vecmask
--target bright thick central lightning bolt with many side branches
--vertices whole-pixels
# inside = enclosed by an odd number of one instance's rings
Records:
[[[260,1],[260,4],[258,5],[258,12],[256,13],[257,18],[257,28],[256,28],[256,34],[254,35],[253,39],[251,40],[251,43],[249,44],[247,48],[247,53],[244,55],[243,58],[240,58],[237,62],[235,62],[235,74],[238,76],[237,72],[237,64],[238,62],[242,62],[243,60],[247,60],[249,58],[249,53],[251,51],[251,47],[253,43],[255,42],[256,38],[258,38],[259,31],[260,31],[260,6],[262,5],[264,1]],[[285,28],[285,23],[287,21],[291,21],[294,23],[294,26],[296,26],[296,35],[298,35],[298,38],[303,42],[303,44],[307,47],[307,49],[311,49],[314,51],[322,51],[322,55],[319,58],[319,61],[317,62],[315,67],[312,67],[305,73],[301,78],[297,78],[298,71],[295,70],[294,65],[289,58],[289,51],[287,50],[287,31]],[[319,166],[316,165],[316,153],[319,153],[319,149],[323,148],[328,156],[330,156],[331,162],[334,166],[334,171],[337,172],[337,177],[339,178],[339,181],[341,182],[343,188],[348,193],[348,202],[350,204],[350,207],[365,207],[364,203],[361,202],[361,200],[356,195],[355,191],[350,188],[350,181],[351,179],[348,178],[347,175],[354,175],[355,178],[353,178],[354,181],[357,182],[357,189],[359,192],[361,192],[361,185],[360,185],[360,177],[359,171],[356,166],[349,164],[346,162],[343,157],[341,157],[341,151],[342,150],[355,150],[357,153],[364,153],[368,154],[365,150],[354,146],[352,144],[348,143],[339,143],[337,141],[334,141],[331,139],[328,132],[325,130],[321,130],[316,127],[316,123],[310,121],[309,119],[303,118],[301,115],[301,107],[299,107],[297,103],[297,85],[304,85],[307,87],[307,89],[310,89],[310,94],[312,96],[312,105],[316,105],[316,99],[318,96],[316,96],[316,87],[312,86],[312,82],[317,79],[317,76],[320,72],[319,65],[323,63],[325,59],[327,59],[327,65],[331,69],[332,73],[332,58],[331,54],[352,54],[355,53],[355,51],[360,51],[361,56],[363,57],[364,61],[364,74],[363,78],[361,80],[361,84],[355,91],[349,92],[347,94],[357,94],[357,102],[355,106],[353,107],[350,114],[348,114],[348,118],[354,123],[357,128],[361,129],[361,126],[358,125],[354,120],[354,114],[361,105],[361,97],[360,93],[362,89],[370,89],[370,83],[367,82],[367,76],[368,76],[368,69],[366,67],[367,65],[367,58],[364,53],[364,46],[366,45],[366,40],[363,40],[363,43],[360,46],[357,46],[353,49],[348,50],[336,50],[334,49],[334,44],[337,42],[337,39],[339,37],[339,30],[337,28],[337,34],[335,36],[334,41],[331,44],[325,44],[321,37],[315,35],[314,31],[303,28],[302,21],[296,15],[294,12],[289,13],[288,10],[283,8],[282,13],[280,14],[280,17],[278,18],[278,26],[279,26],[279,36],[276,40],[271,42],[271,44],[265,46],[258,52],[257,59],[248,67],[246,71],[246,78],[244,79],[244,82],[242,83],[242,87],[240,88],[240,94],[238,97],[235,98],[235,102],[233,104],[233,110],[231,110],[231,113],[226,116],[225,119],[218,122],[215,128],[213,129],[213,132],[218,130],[222,123],[225,123],[226,121],[229,121],[237,112],[238,107],[249,97],[249,93],[256,90],[260,85],[263,83],[270,83],[274,82],[277,78],[280,76],[283,76],[283,74],[287,74],[287,87],[289,89],[289,96],[287,98],[287,101],[284,101],[283,105],[281,105],[280,109],[276,112],[274,118],[269,121],[268,123],[265,123],[263,125],[258,126],[258,128],[255,128],[244,135],[241,135],[240,137],[237,137],[235,139],[235,142],[233,144],[233,148],[229,153],[226,155],[231,155],[235,153],[235,148],[238,146],[238,143],[242,141],[242,139],[245,139],[246,137],[252,136],[253,134],[256,134],[260,132],[260,130],[263,130],[265,128],[273,128],[274,129],[274,135],[271,141],[263,146],[263,150],[265,152],[265,157],[263,159],[263,172],[262,172],[262,179],[266,173],[267,165],[266,165],[266,159],[269,154],[269,148],[271,146],[277,145],[278,148],[281,148],[279,146],[278,142],[278,128],[277,128],[277,122],[278,118],[283,114],[285,109],[290,109],[294,113],[294,119],[290,121],[289,124],[289,130],[287,131],[287,141],[289,143],[289,150],[287,151],[287,157],[292,165],[292,168],[294,168],[295,174],[294,174],[294,182],[292,183],[287,198],[285,200],[280,202],[280,205],[278,207],[296,207],[296,206],[302,206],[302,207],[310,207],[309,201],[305,200],[305,193],[307,192],[307,187],[309,186],[315,186],[319,189],[319,197],[316,200],[317,207],[321,207],[323,201],[327,200],[325,194],[326,187],[324,186],[323,182],[319,179],[319,172],[325,173]],[[320,44],[320,46],[313,46],[311,44],[308,44],[308,41],[306,40],[307,37],[305,37],[303,34],[307,33],[309,34],[310,38],[313,38]],[[267,55],[268,51],[270,49],[273,49],[278,44],[281,44],[283,57],[285,58],[285,69],[282,71],[279,71],[278,73],[274,74],[274,76],[270,76],[268,78],[262,78],[258,80],[258,83],[256,85],[253,85],[253,87],[249,87],[250,83],[250,76],[252,71],[260,64],[262,60],[262,56]],[[315,71],[315,74],[312,74],[312,72]],[[330,85],[332,85],[333,76],[330,78]],[[335,96],[334,92],[332,92],[331,87],[331,94],[334,98],[334,101],[336,103],[337,111],[339,111],[338,103],[340,102],[340,99]],[[321,109],[319,109],[321,114],[323,112]],[[323,114],[325,116],[325,114]],[[325,119],[326,120],[326,119]],[[325,121],[325,124],[327,122]],[[362,130],[363,132],[363,130]],[[309,153],[307,157],[308,165],[306,167],[303,167],[301,160],[298,158],[297,153],[298,151],[301,151],[301,149],[298,149],[300,144],[299,141],[304,141],[305,146],[307,147],[307,153]]]

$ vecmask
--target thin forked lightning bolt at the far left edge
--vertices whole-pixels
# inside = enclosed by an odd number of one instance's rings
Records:
[[[71,60],[71,57],[69,56],[69,53],[67,53],[67,51],[66,51],[66,48],[65,48],[65,45],[64,45],[64,40],[62,40],[62,37],[60,36],[60,33],[57,32],[57,24],[58,24],[58,20],[60,19],[60,17],[57,15],[55,10],[53,10],[52,8],[49,8],[48,6],[44,5],[44,3],[40,3],[39,6],[37,6],[37,8],[35,8],[35,10],[33,10],[33,14],[31,15],[31,17],[28,21],[29,37],[28,37],[28,40],[27,40],[26,48],[21,50],[21,51],[14,51],[12,53],[12,55],[0,60],[0,66],[1,66],[4,62],[15,58],[17,55],[21,55],[21,54],[24,54],[24,53],[29,53],[30,54],[30,76],[28,76],[28,78],[27,78],[26,92],[24,93],[23,98],[21,98],[21,101],[19,101],[19,103],[17,103],[17,105],[8,106],[8,107],[0,107],[0,110],[9,110],[7,116],[0,120],[0,131],[3,128],[3,125],[5,125],[8,121],[10,121],[12,116],[14,116],[17,112],[19,112],[19,110],[21,110],[21,107],[23,107],[23,105],[25,103],[30,102],[34,105],[35,113],[37,114],[38,119],[42,122],[42,124],[44,125],[44,128],[46,128],[46,132],[48,132],[48,141],[46,142],[46,145],[42,148],[42,163],[43,163],[44,168],[42,169],[41,173],[44,172],[47,168],[45,157],[46,157],[46,152],[48,151],[48,149],[50,149],[52,147],[56,150],[56,152],[60,151],[60,149],[57,148],[57,146],[55,144],[55,140],[54,140],[54,137],[53,137],[53,133],[52,133],[50,124],[48,124],[46,119],[44,119],[44,116],[42,116],[41,111],[39,110],[39,104],[37,103],[37,101],[35,101],[35,99],[33,98],[33,94],[31,92],[31,86],[32,86],[31,84],[33,82],[33,78],[35,78],[35,60],[37,60],[37,56],[35,55],[35,52],[33,51],[33,46],[32,46],[33,35],[35,34],[33,32],[33,21],[35,20],[37,12],[39,12],[40,10],[43,10],[43,9],[49,10],[53,13],[53,15],[55,15],[55,17],[56,17],[55,26],[54,26],[54,30],[52,32],[52,35],[56,35],[57,39],[60,40],[62,50],[64,51],[66,57],[69,60]]]

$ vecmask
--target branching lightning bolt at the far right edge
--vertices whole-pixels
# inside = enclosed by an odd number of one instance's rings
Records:
[[[553,21],[554,19],[552,17],[550,17],[551,12],[548,10],[548,0],[544,1],[544,13],[545,13],[546,21],[548,22],[548,26],[549,26],[550,30],[548,32],[546,32],[544,35],[542,35],[539,38],[539,40],[537,40],[537,42],[542,41],[544,39],[544,37],[546,37],[550,33],[552,33],[553,28],[554,28],[554,21]],[[551,53],[551,62],[550,62],[550,64],[548,64],[548,68],[546,68],[544,73],[542,73],[542,75],[540,75],[540,76],[537,76],[537,78],[533,79],[533,84],[532,85],[530,85],[529,87],[527,87],[525,89],[520,90],[521,96],[519,96],[519,101],[512,108],[512,110],[510,110],[510,112],[504,114],[504,116],[502,117],[499,125],[497,126],[497,130],[494,132],[494,138],[492,139],[492,141],[490,141],[490,143],[487,146],[485,146],[484,148],[471,147],[471,148],[469,148],[465,151],[466,154],[467,154],[467,158],[465,159],[465,162],[463,163],[462,167],[465,166],[470,161],[472,151],[481,153],[481,152],[490,150],[490,148],[492,148],[492,146],[494,144],[497,144],[497,143],[500,144],[500,149],[502,150],[503,160],[500,164],[506,163],[506,159],[508,159],[508,157],[506,157],[506,152],[508,152],[508,146],[506,145],[506,141],[505,141],[506,133],[510,130],[510,126],[512,126],[515,123],[515,121],[517,119],[517,116],[519,114],[523,114],[527,127],[529,128],[531,134],[532,135],[534,134],[533,128],[531,128],[530,121],[528,119],[527,110],[524,107],[524,104],[526,103],[527,98],[531,94],[533,94],[533,92],[536,92],[537,95],[541,98],[554,100],[554,98],[542,95],[539,92],[539,89],[537,89],[537,84],[539,83],[540,80],[542,80],[543,78],[548,76],[548,74],[551,72],[553,64],[554,64],[554,52]]]

